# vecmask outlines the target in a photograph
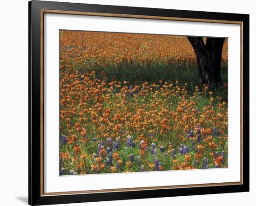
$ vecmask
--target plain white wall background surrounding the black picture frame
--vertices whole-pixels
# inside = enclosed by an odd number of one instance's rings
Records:
[[[70,0],[71,2],[71,0]],[[215,0],[209,5],[203,0],[76,0],[72,2],[98,3],[136,7],[158,7],[184,10],[216,11],[250,14],[250,192],[158,199],[123,200],[71,205],[117,206],[124,205],[184,205],[216,206],[243,205],[254,202],[256,172],[253,128],[256,123],[256,86],[253,77],[256,61],[256,13],[253,1]],[[168,3],[169,2],[169,3]],[[19,206],[27,204],[27,128],[28,128],[28,72],[27,72],[27,0],[1,1],[0,3],[0,205]],[[71,206],[70,205],[70,206]]]

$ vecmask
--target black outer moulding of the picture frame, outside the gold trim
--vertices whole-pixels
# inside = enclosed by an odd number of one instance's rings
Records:
[[[249,15],[236,13],[214,13],[202,11],[185,11],[159,8],[121,7],[80,3],[64,3],[32,0],[28,2],[29,16],[29,150],[28,150],[28,203],[29,205],[47,205],[79,203],[91,201],[107,201],[121,199],[144,199],[172,197],[182,195],[238,193],[249,191]],[[171,189],[150,189],[128,192],[80,193],[64,195],[42,195],[41,193],[41,110],[40,110],[40,10],[62,10],[92,13],[113,13],[129,15],[145,15],[159,17],[175,17],[204,20],[241,21],[243,23],[243,184],[224,186],[200,186]]]

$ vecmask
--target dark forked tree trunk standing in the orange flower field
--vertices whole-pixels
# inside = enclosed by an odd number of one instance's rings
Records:
[[[217,86],[221,79],[222,47],[225,38],[210,38],[204,44],[202,37],[189,37],[198,67],[198,77],[200,84]]]

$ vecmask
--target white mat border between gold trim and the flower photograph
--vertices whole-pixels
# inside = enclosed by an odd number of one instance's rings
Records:
[[[52,13],[45,14],[44,25],[45,193],[240,181],[240,96],[236,93],[240,90],[240,84],[237,83],[240,80],[239,25]],[[59,147],[59,29],[228,37],[229,168],[59,176],[59,150],[56,150]]]

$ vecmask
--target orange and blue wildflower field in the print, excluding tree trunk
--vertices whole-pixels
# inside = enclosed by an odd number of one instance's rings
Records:
[[[222,86],[185,36],[60,31],[60,175],[228,166]]]

